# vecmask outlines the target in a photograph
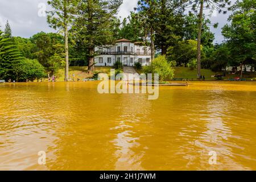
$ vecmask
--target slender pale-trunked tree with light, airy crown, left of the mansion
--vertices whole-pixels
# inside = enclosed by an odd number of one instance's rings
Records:
[[[47,22],[52,28],[64,31],[65,39],[65,81],[68,81],[68,28],[76,14],[78,0],[51,0],[48,4],[53,10],[48,11]]]

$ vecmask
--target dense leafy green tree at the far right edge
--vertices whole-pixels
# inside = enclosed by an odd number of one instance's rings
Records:
[[[256,1],[237,1],[222,34],[228,39],[227,46],[232,59],[230,65],[255,65],[256,60]],[[242,73],[241,73],[242,75]]]

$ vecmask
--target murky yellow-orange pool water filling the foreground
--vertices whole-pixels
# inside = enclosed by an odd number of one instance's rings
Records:
[[[0,84],[0,169],[256,170],[256,82],[163,86],[157,100],[97,84]]]

